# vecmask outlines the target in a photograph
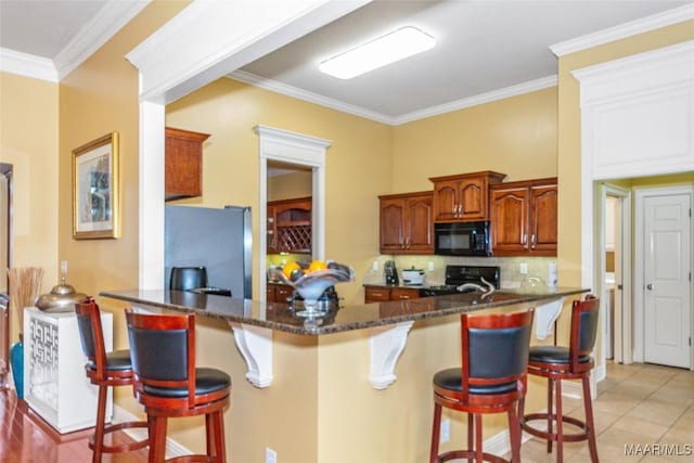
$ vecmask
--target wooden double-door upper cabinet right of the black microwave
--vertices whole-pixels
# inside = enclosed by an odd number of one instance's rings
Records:
[[[494,256],[556,256],[556,178],[490,188]]]

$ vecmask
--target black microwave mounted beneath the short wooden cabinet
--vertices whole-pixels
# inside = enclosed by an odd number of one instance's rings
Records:
[[[440,256],[491,256],[489,220],[434,223],[434,254]]]

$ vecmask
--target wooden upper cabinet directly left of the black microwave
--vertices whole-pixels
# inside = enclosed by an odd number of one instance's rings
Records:
[[[432,192],[378,196],[381,254],[434,254]]]

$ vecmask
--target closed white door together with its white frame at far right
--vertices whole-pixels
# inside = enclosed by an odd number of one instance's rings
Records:
[[[643,189],[635,194],[635,357],[643,362],[694,370],[694,188]]]

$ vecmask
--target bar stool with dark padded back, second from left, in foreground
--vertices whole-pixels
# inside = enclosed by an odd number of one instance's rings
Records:
[[[167,460],[224,463],[223,409],[231,378],[220,370],[195,368],[195,313],[136,313],[126,309],[136,397],[150,420],[151,463],[164,462],[167,419],[205,415],[206,455]]]

